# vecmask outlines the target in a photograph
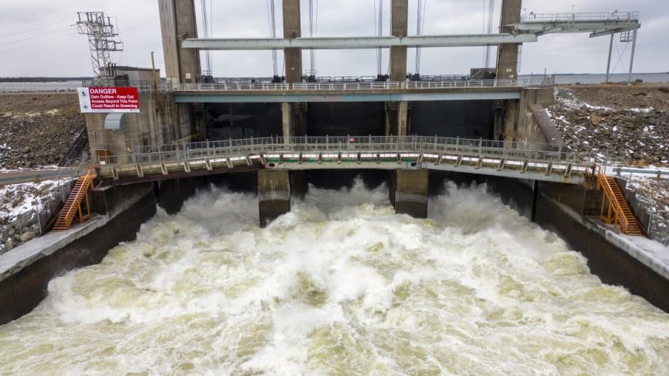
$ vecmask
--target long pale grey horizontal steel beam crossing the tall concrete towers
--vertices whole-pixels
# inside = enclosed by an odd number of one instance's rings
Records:
[[[334,37],[334,38],[187,38],[182,48],[199,50],[271,50],[273,48],[314,48],[347,50],[378,47],[466,47],[498,43],[536,42],[534,34],[463,34],[409,35],[406,37]]]

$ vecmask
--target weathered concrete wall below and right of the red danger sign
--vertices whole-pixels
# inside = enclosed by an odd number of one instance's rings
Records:
[[[106,149],[111,154],[124,154],[128,148],[140,145],[170,144],[183,139],[200,139],[202,125],[196,120],[192,105],[174,103],[170,93],[140,95],[140,113],[125,114],[126,130],[106,130],[106,113],[86,114],[86,130],[91,155],[96,149]]]

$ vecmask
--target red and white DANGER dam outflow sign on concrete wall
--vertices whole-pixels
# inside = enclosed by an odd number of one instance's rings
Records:
[[[138,113],[140,96],[131,86],[79,88],[82,113]]]

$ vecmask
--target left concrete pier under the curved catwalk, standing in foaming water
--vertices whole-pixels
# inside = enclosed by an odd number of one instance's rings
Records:
[[[291,179],[288,170],[258,170],[260,227],[291,211]]]

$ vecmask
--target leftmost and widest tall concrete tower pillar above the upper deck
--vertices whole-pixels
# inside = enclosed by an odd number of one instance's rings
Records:
[[[181,48],[181,40],[198,37],[195,0],[158,0],[158,9],[167,78],[197,82],[200,54],[195,49]]]

